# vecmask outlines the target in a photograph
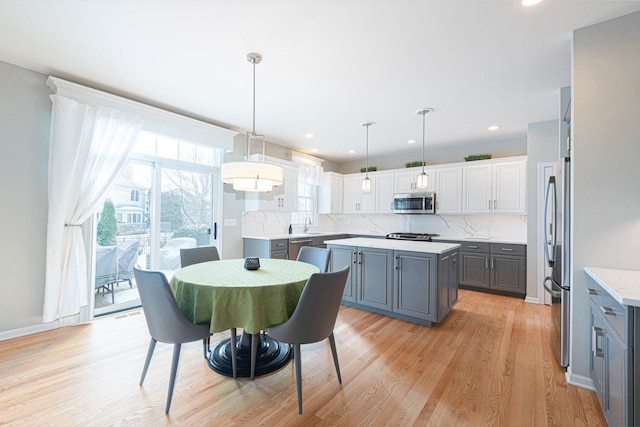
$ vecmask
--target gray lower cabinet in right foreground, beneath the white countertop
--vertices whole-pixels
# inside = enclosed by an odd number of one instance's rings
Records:
[[[640,355],[635,352],[640,319],[635,307],[618,303],[590,281],[591,379],[610,426],[640,423],[640,384],[634,372]]]

